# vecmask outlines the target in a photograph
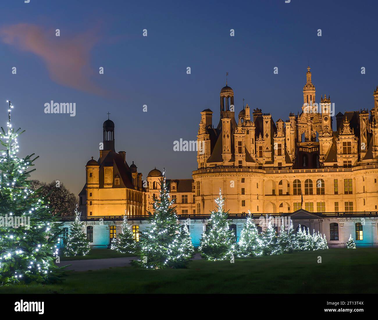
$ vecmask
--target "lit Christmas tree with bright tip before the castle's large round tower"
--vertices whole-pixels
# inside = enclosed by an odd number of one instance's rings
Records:
[[[235,235],[229,230],[227,212],[223,211],[224,202],[225,198],[220,190],[219,197],[215,199],[217,210],[212,211],[200,240],[198,249],[201,251],[201,256],[208,260],[231,259],[236,253]]]

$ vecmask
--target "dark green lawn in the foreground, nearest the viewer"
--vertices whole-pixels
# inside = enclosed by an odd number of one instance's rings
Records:
[[[59,285],[0,287],[0,293],[377,293],[377,266],[378,249],[328,249],[233,264],[197,260],[188,269],[70,272]]]

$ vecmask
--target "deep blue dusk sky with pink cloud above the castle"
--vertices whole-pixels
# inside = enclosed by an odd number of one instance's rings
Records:
[[[326,93],[336,113],[372,109],[376,9],[373,0],[3,0],[1,126],[10,99],[13,126],[26,130],[20,156],[40,156],[32,177],[60,180],[75,194],[85,164],[99,157],[107,112],[116,151],[126,151],[143,179],[155,166],[168,178],[191,178],[196,152],[174,152],[173,143],[197,139],[203,109],[218,124],[226,72],[236,114],[243,98],[274,121],[297,113],[308,64],[316,102]],[[75,117],[45,114],[51,100],[76,103]]]

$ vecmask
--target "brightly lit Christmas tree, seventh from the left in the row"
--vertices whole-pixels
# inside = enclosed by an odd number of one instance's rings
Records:
[[[244,228],[242,232],[240,232],[238,245],[238,256],[255,257],[262,255],[259,232],[257,231],[251,213],[249,213]]]

